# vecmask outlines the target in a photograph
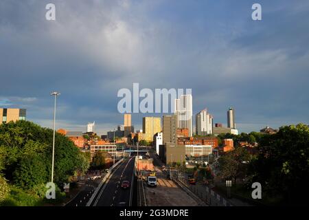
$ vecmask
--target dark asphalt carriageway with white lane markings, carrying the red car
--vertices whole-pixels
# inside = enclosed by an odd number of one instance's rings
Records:
[[[98,198],[95,199],[93,206],[119,206],[120,202],[125,202],[124,206],[130,206],[130,198],[133,197],[134,182],[134,161],[135,157],[124,159],[113,172],[107,183],[102,186],[98,192]],[[122,189],[122,181],[130,181],[130,188]]]

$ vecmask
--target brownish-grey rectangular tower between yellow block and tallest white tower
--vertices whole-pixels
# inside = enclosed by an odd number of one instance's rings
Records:
[[[163,144],[176,143],[176,115],[163,115]]]

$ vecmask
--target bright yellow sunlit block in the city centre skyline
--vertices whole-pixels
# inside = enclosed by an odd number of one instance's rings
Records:
[[[162,131],[161,118],[156,117],[143,118],[143,133],[145,134],[146,141],[152,142],[154,135],[161,131]]]

